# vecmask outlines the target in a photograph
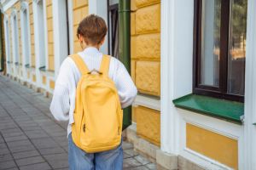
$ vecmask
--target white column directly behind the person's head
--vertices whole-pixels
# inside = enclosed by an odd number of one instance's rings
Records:
[[[102,17],[106,25],[108,25],[108,3],[107,1],[102,0],[89,0],[89,14],[96,14]],[[101,47],[101,51],[103,54],[108,54],[108,34],[105,37],[105,42]]]

